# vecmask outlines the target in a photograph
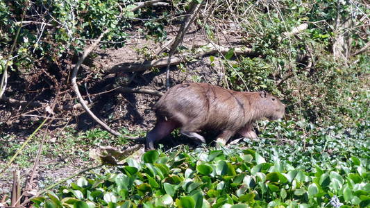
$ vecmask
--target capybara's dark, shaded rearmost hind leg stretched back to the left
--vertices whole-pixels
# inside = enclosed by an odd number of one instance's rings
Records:
[[[146,134],[145,150],[153,150],[154,142],[163,139],[175,128],[177,128],[177,125],[173,121],[157,121],[155,127]]]

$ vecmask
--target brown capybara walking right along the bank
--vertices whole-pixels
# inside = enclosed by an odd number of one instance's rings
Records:
[[[196,142],[205,139],[198,130],[217,130],[219,144],[239,133],[256,138],[254,121],[282,119],[285,105],[267,92],[236,92],[206,83],[183,83],[171,87],[154,105],[157,123],[146,135],[146,150],[174,129]]]

